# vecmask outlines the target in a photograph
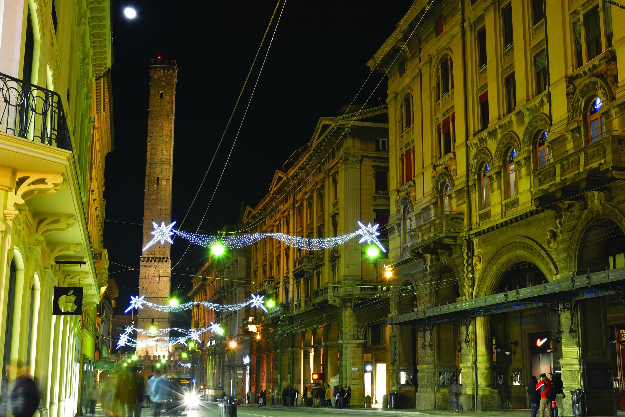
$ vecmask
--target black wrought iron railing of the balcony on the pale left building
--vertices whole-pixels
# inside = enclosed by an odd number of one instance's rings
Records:
[[[61,96],[0,73],[0,133],[72,150]]]

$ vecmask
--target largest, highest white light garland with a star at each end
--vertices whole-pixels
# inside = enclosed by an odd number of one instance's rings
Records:
[[[205,248],[209,248],[216,244],[221,244],[224,248],[244,248],[245,246],[261,241],[264,238],[274,238],[277,241],[287,244],[288,246],[293,246],[294,248],[304,249],[307,251],[334,248],[335,246],[339,246],[340,244],[356,238],[356,236],[362,236],[359,243],[367,241],[367,243],[371,244],[371,242],[373,242],[379,246],[380,249],[382,249],[382,252],[386,252],[384,246],[382,246],[380,241],[377,239],[377,236],[380,234],[377,231],[379,224],[371,226],[371,223],[369,223],[368,226],[364,226],[364,224],[358,222],[360,229],[352,233],[341,234],[341,236],[336,236],[335,238],[301,238],[300,236],[291,236],[285,233],[251,233],[211,236],[207,234],[186,233],[182,230],[173,229],[174,224],[176,224],[175,221],[168,226],[165,226],[164,222],[161,222],[161,226],[155,222],[152,224],[154,225],[154,231],[152,232],[152,234],[154,234],[154,239],[152,239],[146,247],[143,248],[144,251],[157,241],[161,241],[161,244],[164,244],[165,241],[173,243],[169,236],[177,234],[191,243],[204,246]]]

